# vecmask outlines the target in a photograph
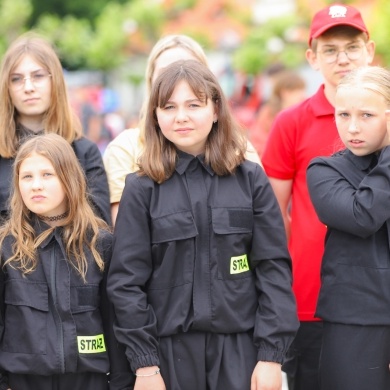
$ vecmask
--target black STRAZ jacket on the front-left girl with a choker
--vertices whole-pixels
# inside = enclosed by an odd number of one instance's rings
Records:
[[[39,233],[48,226],[37,221],[36,228]],[[0,368],[14,374],[108,373],[111,361],[110,389],[130,389],[130,383],[124,384],[131,380],[129,367],[113,334],[114,312],[106,293],[112,234],[100,237],[104,272],[87,252],[84,283],[66,260],[61,230],[57,227],[41,244],[31,274],[23,276],[9,265],[0,269]],[[6,237],[1,264],[12,254],[13,240]],[[120,370],[127,370],[125,380]]]

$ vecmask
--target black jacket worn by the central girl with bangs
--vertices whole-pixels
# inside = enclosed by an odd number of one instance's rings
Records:
[[[134,370],[159,364],[158,337],[188,331],[254,331],[259,360],[281,362],[298,322],[268,179],[249,161],[221,177],[179,156],[161,185],[126,178],[108,277],[116,336]]]

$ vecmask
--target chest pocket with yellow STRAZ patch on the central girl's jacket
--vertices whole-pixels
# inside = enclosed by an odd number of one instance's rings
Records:
[[[211,209],[218,279],[236,280],[252,276],[249,254],[252,247],[253,211],[250,207]]]

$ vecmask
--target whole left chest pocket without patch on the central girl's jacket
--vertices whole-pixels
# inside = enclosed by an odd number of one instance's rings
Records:
[[[192,282],[198,230],[191,211],[152,219],[153,276],[149,289]]]

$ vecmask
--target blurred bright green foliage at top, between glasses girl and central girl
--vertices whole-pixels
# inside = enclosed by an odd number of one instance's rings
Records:
[[[106,3],[93,23],[71,15],[60,18],[44,14],[36,29],[56,45],[66,68],[110,70],[121,65],[128,55],[127,25],[138,29],[147,41],[155,41],[163,19],[157,2],[136,0],[120,4],[112,1]]]

